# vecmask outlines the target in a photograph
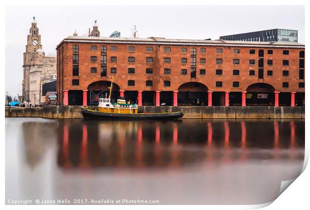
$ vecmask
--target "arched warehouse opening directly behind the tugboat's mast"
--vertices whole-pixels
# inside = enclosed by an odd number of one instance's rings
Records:
[[[94,81],[87,86],[87,105],[98,105],[99,97],[109,96],[110,81]],[[116,101],[119,97],[119,86],[113,82],[111,101]]]

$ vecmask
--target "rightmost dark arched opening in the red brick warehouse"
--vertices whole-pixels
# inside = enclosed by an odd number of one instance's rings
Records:
[[[267,83],[253,83],[246,88],[246,105],[274,105],[275,88]]]

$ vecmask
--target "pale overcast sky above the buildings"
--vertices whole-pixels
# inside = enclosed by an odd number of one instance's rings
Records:
[[[21,95],[22,59],[27,34],[35,16],[45,55],[55,56],[56,45],[74,30],[87,35],[97,20],[100,36],[114,30],[121,37],[217,39],[229,35],[271,28],[298,30],[298,42],[304,44],[304,6],[6,6],[5,7],[5,90]]]

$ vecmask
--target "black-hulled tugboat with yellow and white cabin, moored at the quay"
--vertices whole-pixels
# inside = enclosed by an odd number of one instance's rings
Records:
[[[137,104],[126,103],[123,97],[117,99],[116,103],[111,103],[112,83],[108,87],[110,89],[109,96],[105,94],[105,98],[100,97],[96,110],[83,108],[82,115],[84,119],[176,119],[183,116],[178,112],[162,112],[162,113],[139,113]]]

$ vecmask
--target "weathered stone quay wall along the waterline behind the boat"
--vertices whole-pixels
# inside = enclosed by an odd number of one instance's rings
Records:
[[[96,106],[86,106],[94,109]],[[82,106],[5,107],[5,117],[83,118]],[[183,119],[304,118],[304,106],[139,106],[139,111],[182,111]]]

